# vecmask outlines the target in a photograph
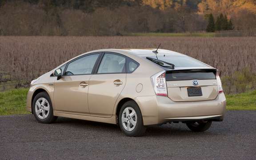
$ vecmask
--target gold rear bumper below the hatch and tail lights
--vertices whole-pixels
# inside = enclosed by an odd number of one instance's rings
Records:
[[[144,125],[170,121],[213,120],[222,121],[226,110],[224,93],[215,100],[174,102],[164,96],[137,97]]]

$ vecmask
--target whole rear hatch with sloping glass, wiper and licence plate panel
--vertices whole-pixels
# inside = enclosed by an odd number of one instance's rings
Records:
[[[214,100],[218,96],[217,70],[208,64],[189,56],[161,52],[146,58],[166,70],[167,94],[173,101]]]

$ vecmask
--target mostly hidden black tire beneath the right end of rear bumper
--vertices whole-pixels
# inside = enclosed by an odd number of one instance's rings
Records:
[[[204,132],[211,127],[212,121],[188,122],[186,124],[193,132]]]

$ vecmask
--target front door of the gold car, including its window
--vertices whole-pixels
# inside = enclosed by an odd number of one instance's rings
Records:
[[[81,56],[69,62],[60,80],[55,81],[55,110],[62,113],[90,115],[89,79],[100,53]]]

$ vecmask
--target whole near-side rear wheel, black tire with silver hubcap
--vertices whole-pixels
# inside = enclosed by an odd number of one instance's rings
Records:
[[[119,112],[118,121],[121,130],[126,136],[142,136],[146,131],[140,108],[135,101],[128,101],[123,104]]]

